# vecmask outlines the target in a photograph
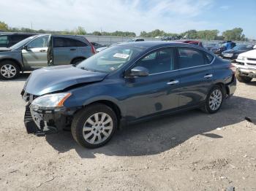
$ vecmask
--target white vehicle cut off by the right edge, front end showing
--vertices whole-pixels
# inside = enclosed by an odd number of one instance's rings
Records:
[[[256,45],[254,50],[238,55],[236,62],[236,78],[239,82],[248,83],[256,78]]]

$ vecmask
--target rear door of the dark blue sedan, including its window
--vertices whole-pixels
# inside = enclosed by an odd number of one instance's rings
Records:
[[[213,55],[192,47],[177,47],[180,69],[179,106],[195,106],[206,99],[213,84]]]

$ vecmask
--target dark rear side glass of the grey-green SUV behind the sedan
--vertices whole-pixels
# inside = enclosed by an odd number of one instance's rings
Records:
[[[76,39],[56,37],[53,39],[54,47],[86,47],[87,44]]]

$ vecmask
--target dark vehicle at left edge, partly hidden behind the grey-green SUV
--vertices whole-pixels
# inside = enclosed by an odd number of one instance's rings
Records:
[[[36,34],[1,34],[0,35],[0,47],[12,47],[12,45]]]

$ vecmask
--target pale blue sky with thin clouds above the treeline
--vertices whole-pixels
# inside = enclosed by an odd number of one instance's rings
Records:
[[[219,0],[1,0],[0,20],[12,27],[31,28],[33,23],[35,29],[72,30],[82,26],[88,32],[102,28],[136,34],[157,28],[180,33],[189,29],[224,31],[240,26],[246,36],[256,37],[255,26],[244,23],[248,20],[230,22],[234,11],[230,4],[234,1],[224,2],[227,4]],[[248,14],[248,9],[244,12]],[[256,20],[255,14],[250,20]]]

